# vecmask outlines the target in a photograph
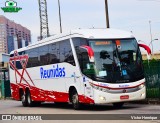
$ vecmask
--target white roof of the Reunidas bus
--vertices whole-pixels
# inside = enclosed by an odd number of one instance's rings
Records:
[[[122,38],[134,38],[131,32],[118,30],[118,29],[77,29],[71,30],[69,33],[61,33],[54,36],[50,36],[41,41],[37,41],[27,47],[20,48],[17,51],[24,51],[26,49],[38,47],[41,45],[49,44],[51,42],[58,42],[69,38],[87,38],[87,39],[122,39]],[[13,51],[11,52],[13,54]]]

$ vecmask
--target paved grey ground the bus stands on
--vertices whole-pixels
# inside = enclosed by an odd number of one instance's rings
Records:
[[[23,107],[21,102],[14,101],[14,100],[0,100],[0,114],[123,114],[125,116],[127,114],[159,114],[160,115],[160,105],[142,105],[142,104],[125,104],[122,109],[114,109],[112,105],[101,105],[101,106],[84,106],[82,110],[76,111],[72,108],[72,105],[63,105],[57,106],[54,103],[45,103],[39,107]],[[95,116],[95,115],[94,115]],[[113,115],[114,117],[114,115]],[[121,116],[115,117],[120,118]],[[63,119],[62,119],[63,120]],[[17,123],[17,121],[14,121]],[[22,122],[22,121],[21,121]],[[25,121],[24,121],[25,122]],[[31,122],[31,121],[30,121]],[[34,122],[34,121],[32,121]],[[41,123],[44,121],[36,121],[37,123]],[[47,121],[51,122],[51,121]],[[53,122],[53,121],[52,121]],[[54,120],[54,122],[60,122]],[[63,121],[65,123],[70,122],[82,122],[81,121]],[[106,121],[91,121],[88,120],[87,123],[106,123]],[[117,122],[116,121],[109,121],[109,122]],[[120,121],[118,123],[128,121]],[[141,122],[153,122],[153,123],[160,123],[160,121],[139,121],[139,120],[132,120],[129,121],[130,123],[141,123]],[[3,121],[0,121],[3,123]],[[6,121],[5,121],[6,123]]]

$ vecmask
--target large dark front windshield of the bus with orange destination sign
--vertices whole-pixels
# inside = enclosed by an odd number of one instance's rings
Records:
[[[142,57],[134,38],[85,42],[94,52],[94,62],[89,61],[83,50],[77,54],[84,75],[107,83],[134,82],[144,78]]]

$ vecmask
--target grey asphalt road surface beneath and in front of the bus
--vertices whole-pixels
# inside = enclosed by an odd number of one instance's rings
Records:
[[[126,120],[125,117],[128,115],[132,116],[157,116],[160,117],[160,105],[152,105],[152,104],[131,104],[126,103],[123,108],[115,109],[111,104],[107,105],[86,105],[83,106],[81,110],[74,110],[72,105],[56,105],[54,103],[44,103],[38,107],[23,107],[20,101],[15,100],[0,100],[0,114],[14,114],[14,115],[43,115],[47,114],[47,116],[51,116],[52,119],[58,120],[47,120],[45,122],[65,122],[65,123],[75,123],[75,122],[87,122],[87,123],[106,123],[106,122],[126,122],[126,123],[141,123],[141,122],[152,122],[152,123],[160,123],[160,120]],[[59,115],[57,115],[59,114]],[[77,115],[76,115],[77,114]],[[91,114],[91,116],[90,116]],[[117,115],[118,114],[118,115]],[[139,115],[140,114],[140,115]],[[71,116],[70,120],[66,120],[65,116]],[[53,116],[53,117],[52,117]],[[75,120],[75,117],[81,116],[82,119]],[[88,117],[88,120],[83,120]],[[115,120],[92,120],[104,116],[104,119],[107,116],[110,116],[110,119]],[[105,117],[106,116],[106,117]],[[6,122],[28,122],[28,121],[0,121],[0,123]],[[29,121],[43,123],[44,121]]]

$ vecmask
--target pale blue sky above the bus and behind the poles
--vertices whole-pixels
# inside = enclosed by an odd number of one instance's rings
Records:
[[[6,0],[0,0],[4,7]],[[22,10],[0,15],[31,30],[32,42],[40,35],[38,0],[15,0]],[[105,0],[60,0],[63,32],[78,28],[106,28]],[[160,0],[108,0],[110,27],[131,31],[137,41],[149,44],[151,34],[154,52],[160,52]],[[58,0],[47,0],[49,32],[60,33]]]

